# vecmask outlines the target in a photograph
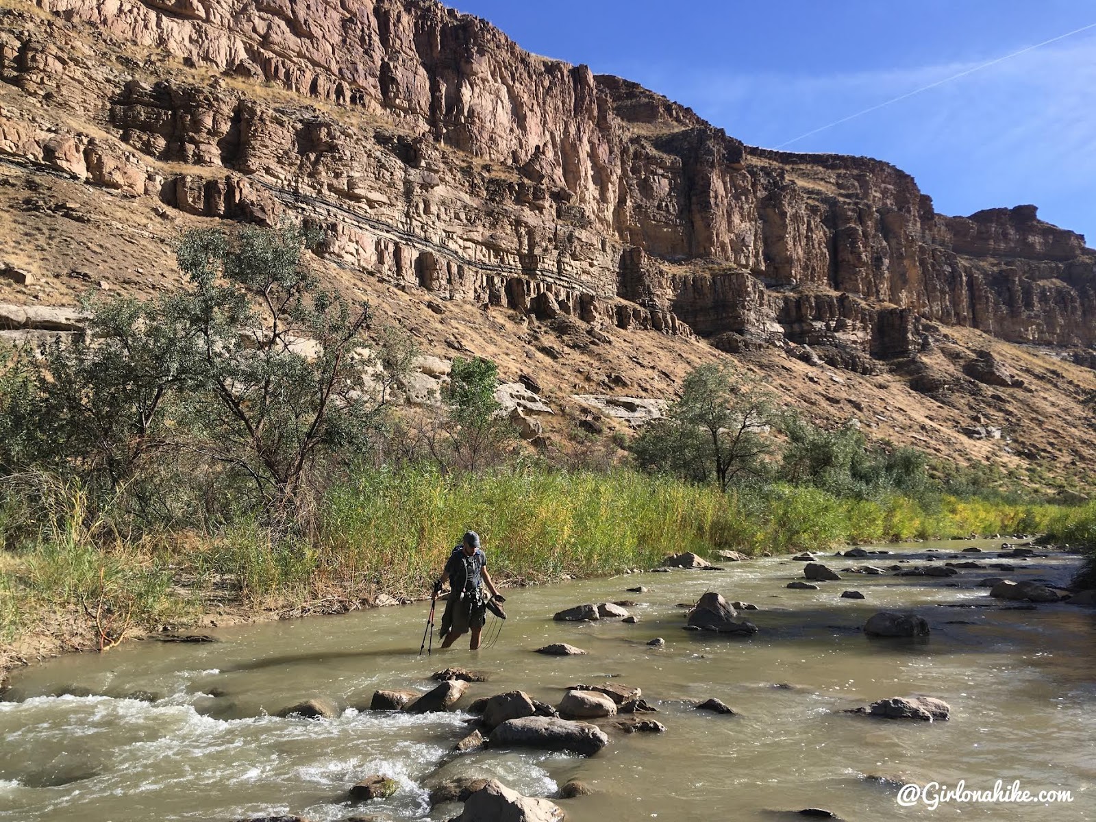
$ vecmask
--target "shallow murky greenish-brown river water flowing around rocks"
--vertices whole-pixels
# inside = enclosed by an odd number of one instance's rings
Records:
[[[916,563],[990,541],[889,545]],[[940,553],[929,555],[940,557]],[[981,562],[995,555],[961,555]],[[830,557],[830,568],[863,563]],[[937,560],[943,561],[943,560]],[[1064,583],[1076,558],[1007,560],[1016,571],[954,578],[845,574],[819,591],[785,587],[802,563],[770,558],[724,571],[673,571],[527,587],[509,593],[498,643],[418,655],[427,605],[221,629],[207,644],[133,642],[15,672],[0,703],[0,820],[145,822],[233,820],[295,813],[317,822],[355,814],[446,820],[423,785],[456,775],[495,776],[530,796],[579,778],[592,796],[559,800],[573,822],[798,819],[824,808],[846,820],[961,817],[1096,819],[1096,610],[1040,605],[1003,609],[975,587],[985,576]],[[904,563],[902,563],[904,566]],[[646,593],[627,593],[633,585]],[[682,629],[705,591],[755,603],[752,639]],[[840,598],[858,590],[864,601]],[[637,625],[553,623],[570,605],[631,598]],[[940,604],[994,603],[992,608]],[[1007,605],[1007,603],[1005,603]],[[882,609],[928,619],[927,640],[878,640],[859,628]],[[647,641],[663,637],[663,648]],[[533,652],[570,642],[585,657]],[[435,644],[436,649],[436,644]],[[610,733],[590,758],[482,751],[447,758],[470,715],[346,710],[334,720],[272,715],[323,696],[367,705],[376,688],[418,688],[448,665],[488,672],[458,708],[521,688],[558,704],[575,683],[638,686],[659,708],[661,734]],[[947,722],[895,722],[841,712],[890,696],[922,694],[951,705]],[[696,711],[709,697],[739,716]],[[606,726],[610,726],[607,722]],[[400,790],[351,806],[358,779],[383,774]],[[886,777],[880,780],[879,778]],[[1070,803],[897,803],[903,781],[992,789],[1065,789]]]

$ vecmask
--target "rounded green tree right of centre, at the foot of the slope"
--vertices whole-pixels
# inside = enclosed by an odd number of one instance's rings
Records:
[[[765,475],[770,444],[763,434],[773,414],[772,397],[755,381],[708,363],[685,377],[681,399],[665,418],[636,437],[632,456],[646,470],[715,482],[727,491],[737,480]]]

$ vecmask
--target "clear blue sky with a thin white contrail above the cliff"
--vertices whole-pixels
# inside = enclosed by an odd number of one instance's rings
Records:
[[[767,147],[1096,23],[1091,0],[450,2]],[[944,214],[1034,203],[1096,246],[1096,27],[785,148],[892,162]]]

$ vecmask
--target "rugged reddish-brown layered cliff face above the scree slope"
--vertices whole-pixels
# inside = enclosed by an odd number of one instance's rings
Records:
[[[302,216],[362,276],[854,370],[927,322],[1096,344],[1096,252],[1034,206],[938,215],[892,165],[747,148],[430,0],[0,15],[0,155],[192,215]]]

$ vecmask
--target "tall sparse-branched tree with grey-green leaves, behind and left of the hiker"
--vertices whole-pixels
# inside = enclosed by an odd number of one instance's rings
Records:
[[[324,455],[364,447],[391,377],[366,349],[368,306],[305,265],[319,240],[294,225],[198,229],[176,251],[192,288],[173,316],[197,347],[191,447],[249,478],[286,524],[308,520]]]

